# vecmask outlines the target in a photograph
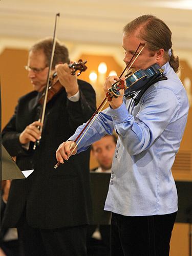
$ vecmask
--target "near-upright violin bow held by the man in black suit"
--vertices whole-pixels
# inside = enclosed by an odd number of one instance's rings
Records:
[[[53,46],[52,46],[52,51],[51,51],[51,60],[50,60],[50,64],[49,64],[49,71],[48,71],[48,76],[47,76],[47,84],[46,84],[46,88],[45,88],[45,96],[44,96],[44,104],[42,106],[42,110],[41,110],[41,118],[39,118],[39,122],[41,122],[42,124],[44,123],[44,119],[45,119],[45,112],[46,112],[46,104],[47,104],[47,97],[48,97],[48,90],[49,90],[49,82],[50,82],[50,76],[51,76],[51,69],[52,69],[52,65],[53,65],[53,58],[54,58],[54,54],[55,54],[55,46],[56,46],[56,28],[57,28],[57,20],[59,18],[60,14],[57,13],[55,16],[55,26],[54,26],[54,33],[53,33]],[[38,126],[37,127],[40,132],[42,132],[42,127]],[[38,145],[40,143],[40,140],[37,140],[34,145],[33,145],[33,150],[35,150],[36,145]]]

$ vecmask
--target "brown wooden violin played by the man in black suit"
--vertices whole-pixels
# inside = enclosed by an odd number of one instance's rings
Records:
[[[79,71],[77,73],[77,76],[79,76],[81,74],[81,72],[84,72],[87,70],[87,66],[86,66],[87,60],[82,61],[82,59],[79,59],[78,62],[73,62],[70,63],[68,65],[68,67],[71,69],[71,75],[75,75],[76,71]],[[62,84],[59,82],[57,73],[55,72],[52,76],[52,78],[50,79],[50,84],[48,87],[48,94],[47,94],[47,101],[46,103],[48,103],[57,93],[60,92],[60,90],[63,88]],[[39,99],[39,103],[41,105],[44,104],[44,100],[45,100],[45,92],[42,94],[42,96]]]

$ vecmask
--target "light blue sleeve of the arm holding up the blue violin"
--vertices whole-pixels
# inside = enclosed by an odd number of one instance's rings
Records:
[[[134,117],[123,103],[118,109],[108,109],[114,129],[130,155],[137,155],[150,147],[175,120],[179,110],[176,95],[169,88],[157,87],[144,95],[140,110]]]

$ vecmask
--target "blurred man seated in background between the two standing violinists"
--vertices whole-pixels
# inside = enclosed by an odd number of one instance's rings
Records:
[[[97,160],[99,166],[92,169],[95,173],[111,173],[113,156],[115,153],[117,138],[115,135],[105,135],[99,141],[96,141],[91,146],[93,157]],[[91,177],[92,178],[92,177]],[[110,179],[110,178],[109,178]],[[108,187],[109,184],[106,184]],[[95,191],[100,197],[98,191]],[[107,193],[107,191],[106,191]],[[106,195],[102,196],[103,207]],[[100,200],[102,200],[100,198]],[[93,197],[93,204],[95,205]],[[99,209],[98,209],[99,211]],[[103,210],[104,211],[104,210]],[[108,215],[108,212],[106,212]],[[98,223],[99,224],[99,223]],[[88,255],[110,255],[110,225],[90,225],[88,229]]]

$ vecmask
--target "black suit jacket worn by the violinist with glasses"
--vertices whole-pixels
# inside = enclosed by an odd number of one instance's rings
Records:
[[[65,89],[47,103],[40,145],[25,150],[19,135],[38,120],[39,94],[35,91],[19,99],[15,113],[2,132],[3,144],[21,170],[34,169],[27,178],[13,180],[3,226],[15,227],[26,214],[34,228],[59,228],[89,223],[91,215],[89,159],[90,152],[70,157],[57,169],[55,152],[76,128],[95,111],[95,92],[91,85],[78,80],[80,100],[72,102]]]

